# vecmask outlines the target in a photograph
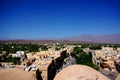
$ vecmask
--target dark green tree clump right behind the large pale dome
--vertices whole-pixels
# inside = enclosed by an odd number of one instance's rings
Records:
[[[92,62],[92,54],[86,54],[81,48],[75,47],[73,52],[71,53],[71,56],[76,59],[77,64],[87,65],[90,66],[96,70],[99,69],[99,67]]]

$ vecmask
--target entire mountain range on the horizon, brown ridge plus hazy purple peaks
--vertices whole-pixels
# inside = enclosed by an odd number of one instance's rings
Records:
[[[52,43],[63,43],[63,44],[79,44],[79,43],[113,43],[120,44],[120,34],[108,34],[108,35],[80,35],[69,38],[49,38],[49,39],[37,39],[37,40],[0,40],[0,44],[52,44]]]

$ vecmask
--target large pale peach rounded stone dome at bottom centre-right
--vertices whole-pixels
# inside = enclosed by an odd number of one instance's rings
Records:
[[[72,65],[61,70],[54,80],[110,80],[100,72],[84,65]]]

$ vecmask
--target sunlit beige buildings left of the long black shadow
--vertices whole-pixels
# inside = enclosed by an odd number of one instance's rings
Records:
[[[73,50],[73,47],[71,46],[66,46],[64,49],[60,49],[60,50],[55,50],[54,48],[48,49],[47,51],[40,51],[40,52],[30,52],[27,53],[27,59],[23,60],[21,63],[21,67],[22,69],[24,69],[25,71],[29,71],[32,72],[33,74],[36,74],[36,71],[39,69],[41,72],[41,77],[43,80],[48,80],[48,67],[51,68],[51,63],[57,64],[59,62],[57,62],[57,59],[59,58],[61,59],[61,53],[66,51],[66,54],[70,54],[71,51]],[[18,53],[16,53],[18,54]],[[22,56],[21,56],[22,57]],[[68,59],[64,59],[64,61],[66,61],[66,64],[68,65],[68,63],[71,63],[72,58],[69,58],[69,62]],[[74,61],[75,62],[75,61]],[[54,65],[56,66],[56,65]],[[65,64],[64,64],[65,66]],[[61,66],[62,67],[62,66]]]

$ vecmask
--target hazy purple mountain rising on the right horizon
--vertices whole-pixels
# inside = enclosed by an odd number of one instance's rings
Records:
[[[70,38],[65,38],[66,40],[72,41],[87,41],[95,43],[115,43],[120,44],[120,34],[108,34],[108,35],[80,35]]]

